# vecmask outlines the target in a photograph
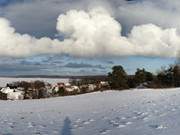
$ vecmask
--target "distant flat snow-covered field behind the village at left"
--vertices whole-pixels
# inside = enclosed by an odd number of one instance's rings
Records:
[[[16,81],[35,81],[40,80],[48,82],[51,84],[56,84],[57,82],[68,82],[69,79],[65,78],[12,78],[12,77],[0,77],[0,87],[6,86],[7,83],[16,82]]]

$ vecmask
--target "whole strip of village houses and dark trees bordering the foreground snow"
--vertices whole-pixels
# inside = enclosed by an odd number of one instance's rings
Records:
[[[175,64],[153,74],[137,69],[134,75],[128,75],[121,65],[112,67],[107,76],[71,77],[66,82],[58,80],[50,83],[46,80],[17,80],[6,83],[0,88],[1,100],[41,99],[58,96],[85,94],[106,90],[159,89],[180,87],[180,66]]]

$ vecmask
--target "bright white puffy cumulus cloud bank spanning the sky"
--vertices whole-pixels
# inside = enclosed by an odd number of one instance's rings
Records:
[[[5,18],[0,18],[0,55],[26,57],[39,54],[68,54],[77,57],[124,55],[176,57],[180,35],[175,28],[154,24],[134,26],[122,36],[122,26],[102,8],[70,10],[57,19],[63,40],[35,38],[17,33]]]

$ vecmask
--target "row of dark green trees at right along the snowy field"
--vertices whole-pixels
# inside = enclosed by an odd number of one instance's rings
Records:
[[[129,88],[170,88],[180,87],[180,65],[162,68],[157,74],[137,69],[134,75],[127,75],[122,66],[114,66],[108,74],[111,89]]]

